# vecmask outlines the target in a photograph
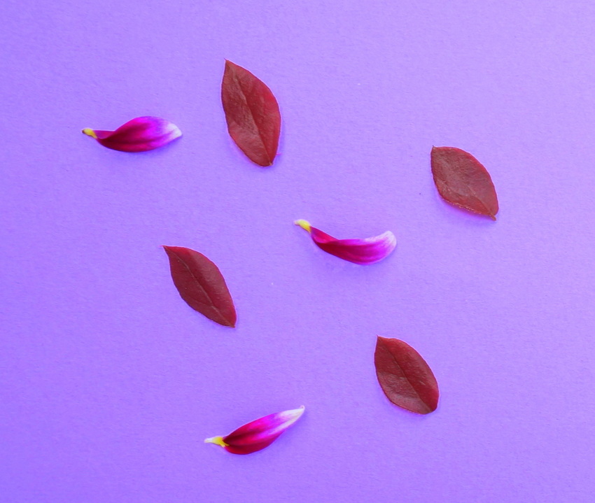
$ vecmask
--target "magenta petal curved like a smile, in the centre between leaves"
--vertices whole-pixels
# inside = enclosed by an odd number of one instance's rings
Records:
[[[306,220],[296,220],[295,225],[306,229],[312,241],[321,250],[355,264],[367,265],[380,262],[391,255],[397,246],[397,239],[391,231],[365,239],[336,239],[312,227]]]

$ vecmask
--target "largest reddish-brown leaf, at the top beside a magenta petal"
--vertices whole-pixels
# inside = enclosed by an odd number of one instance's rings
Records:
[[[260,166],[270,166],[279,146],[281,114],[271,90],[248,70],[225,60],[221,101],[233,141]]]

